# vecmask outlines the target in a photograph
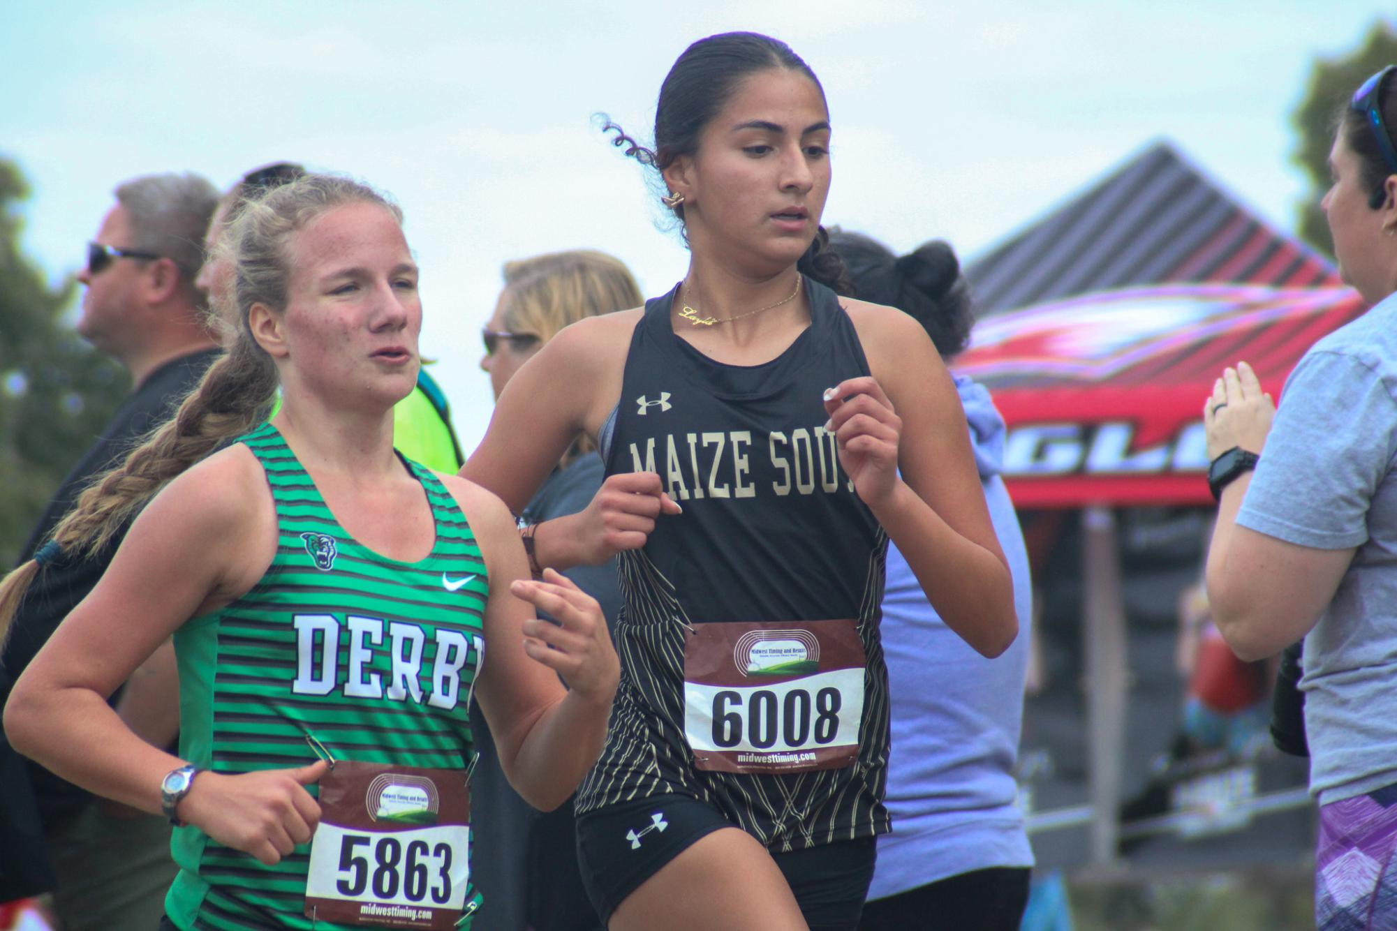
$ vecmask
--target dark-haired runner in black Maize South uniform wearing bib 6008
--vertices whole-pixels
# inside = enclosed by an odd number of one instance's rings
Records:
[[[830,114],[788,46],[696,42],[655,149],[617,144],[659,170],[689,274],[543,346],[462,470],[517,509],[576,434],[606,461],[585,511],[524,530],[542,565],[619,553],[584,881],[613,930],[854,928],[888,831],[887,537],[975,649],[1017,632],[964,413],[916,321],[830,288]]]

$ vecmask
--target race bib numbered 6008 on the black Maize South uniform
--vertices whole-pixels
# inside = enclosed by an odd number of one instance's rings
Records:
[[[697,624],[685,737],[697,769],[837,769],[859,754],[863,643],[852,620]]]

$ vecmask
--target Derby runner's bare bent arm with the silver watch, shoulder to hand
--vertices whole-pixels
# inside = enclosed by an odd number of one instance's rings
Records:
[[[106,699],[186,620],[261,578],[275,554],[275,529],[267,482],[246,448],[225,449],[175,479],[15,683],[4,710],[15,750],[89,791],[161,812],[161,782],[184,761],[141,740]],[[314,832],[320,807],[303,786],[323,772],[323,762],[237,776],[203,772],[177,815],[274,864]]]

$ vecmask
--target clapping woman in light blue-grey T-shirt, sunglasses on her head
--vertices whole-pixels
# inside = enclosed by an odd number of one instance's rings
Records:
[[[1394,75],[1365,81],[1341,114],[1322,201],[1344,281],[1372,308],[1305,353],[1280,410],[1246,363],[1204,406],[1218,630],[1248,660],[1305,636],[1323,931],[1397,927]]]

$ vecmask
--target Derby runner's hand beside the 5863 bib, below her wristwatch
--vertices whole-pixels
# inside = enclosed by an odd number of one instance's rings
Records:
[[[316,833],[320,803],[306,786],[320,782],[326,769],[319,759],[296,769],[237,776],[205,770],[194,776],[176,814],[218,843],[271,867]]]

